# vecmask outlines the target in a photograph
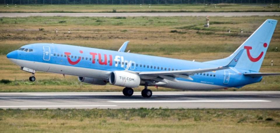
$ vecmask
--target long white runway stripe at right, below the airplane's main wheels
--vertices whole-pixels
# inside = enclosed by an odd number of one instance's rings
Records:
[[[161,100],[161,101],[108,101],[114,103],[219,103],[219,102],[271,102],[267,100]]]

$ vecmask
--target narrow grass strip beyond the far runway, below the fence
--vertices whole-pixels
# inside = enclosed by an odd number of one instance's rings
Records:
[[[113,9],[115,11],[113,11]],[[174,4],[174,5],[0,5],[0,12],[279,12],[279,5],[270,7],[239,5],[239,4],[214,4],[205,6]]]

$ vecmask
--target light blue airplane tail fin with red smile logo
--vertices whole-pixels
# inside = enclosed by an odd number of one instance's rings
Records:
[[[269,46],[277,20],[267,19],[260,27],[229,57],[204,63],[226,65],[242,49],[245,49],[235,68],[259,72],[265,53]]]

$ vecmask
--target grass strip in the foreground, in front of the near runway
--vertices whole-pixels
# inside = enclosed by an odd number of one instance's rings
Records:
[[[0,110],[0,132],[280,131],[279,110]]]

